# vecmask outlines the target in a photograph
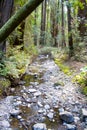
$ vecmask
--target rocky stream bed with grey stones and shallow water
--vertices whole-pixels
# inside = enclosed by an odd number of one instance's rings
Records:
[[[46,130],[33,127],[38,123],[47,130],[87,130],[87,98],[49,55],[39,55],[0,101],[0,130]]]

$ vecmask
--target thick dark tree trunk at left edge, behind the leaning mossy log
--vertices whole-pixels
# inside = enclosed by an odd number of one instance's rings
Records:
[[[0,1],[0,28],[7,22],[11,16],[14,0]],[[6,51],[6,41],[0,42],[0,51]]]

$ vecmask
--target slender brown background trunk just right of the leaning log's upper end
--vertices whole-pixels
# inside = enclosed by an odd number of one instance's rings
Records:
[[[46,28],[46,0],[42,3],[42,11],[41,11],[41,40],[40,44],[45,44],[45,28]]]

